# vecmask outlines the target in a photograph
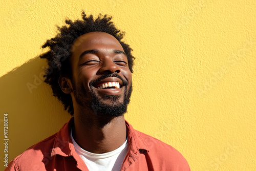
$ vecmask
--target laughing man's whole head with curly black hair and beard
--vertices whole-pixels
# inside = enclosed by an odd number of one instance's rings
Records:
[[[48,60],[45,81],[51,85],[54,96],[71,115],[72,98],[80,106],[93,106],[96,113],[123,114],[130,101],[134,60],[132,49],[121,41],[124,33],[106,15],[94,20],[82,12],[82,20],[66,23],[70,26],[58,28],[60,33],[42,46],[50,51],[40,55]],[[103,89],[105,83],[111,86],[109,83],[113,82],[113,90]],[[118,83],[120,87],[115,89]]]

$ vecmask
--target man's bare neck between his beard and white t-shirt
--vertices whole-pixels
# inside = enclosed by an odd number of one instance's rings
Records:
[[[74,117],[73,138],[84,150],[101,154],[114,151],[126,140],[124,116],[101,117],[95,114]]]

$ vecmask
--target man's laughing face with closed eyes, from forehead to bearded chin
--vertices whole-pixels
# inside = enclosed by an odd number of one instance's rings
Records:
[[[132,73],[118,40],[108,33],[90,32],[78,37],[71,49],[76,103],[96,114],[124,114],[132,93]]]

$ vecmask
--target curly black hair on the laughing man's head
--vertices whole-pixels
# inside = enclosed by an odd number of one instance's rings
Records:
[[[71,78],[71,66],[69,58],[72,54],[71,46],[73,42],[81,35],[89,32],[105,32],[114,36],[121,44],[124,52],[127,55],[129,69],[133,73],[133,61],[135,57],[132,55],[132,49],[129,45],[122,41],[124,32],[121,32],[111,21],[112,17],[108,15],[99,14],[96,19],[93,15],[87,16],[82,11],[82,20],[66,19],[66,24],[57,29],[59,33],[45,42],[42,48],[49,47],[50,50],[39,55],[40,58],[46,58],[48,61],[48,69],[45,74],[45,82],[50,84],[53,95],[56,96],[63,104],[65,110],[73,115],[74,108],[70,94],[65,94],[61,91],[58,79],[59,77]]]

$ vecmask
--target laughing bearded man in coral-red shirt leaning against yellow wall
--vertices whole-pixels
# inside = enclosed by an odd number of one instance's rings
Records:
[[[132,49],[111,17],[66,20],[47,40],[46,82],[74,117],[6,170],[190,170],[172,146],[124,120],[132,93]]]

